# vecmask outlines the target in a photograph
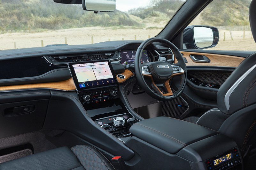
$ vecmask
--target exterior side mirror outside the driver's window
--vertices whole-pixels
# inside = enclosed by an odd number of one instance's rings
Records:
[[[183,49],[206,49],[219,42],[219,30],[213,26],[191,25],[183,31]]]

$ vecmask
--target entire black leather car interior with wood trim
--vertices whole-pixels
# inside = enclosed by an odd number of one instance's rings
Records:
[[[256,53],[198,47],[196,29],[220,39],[189,26],[211,2],[144,41],[1,50],[0,169],[255,169]]]

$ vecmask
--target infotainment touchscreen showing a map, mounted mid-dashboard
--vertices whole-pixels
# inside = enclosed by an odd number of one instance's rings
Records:
[[[71,62],[68,66],[78,91],[117,82],[109,60]]]

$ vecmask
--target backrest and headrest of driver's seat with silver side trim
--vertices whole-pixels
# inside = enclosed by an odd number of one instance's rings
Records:
[[[249,19],[252,35],[256,40],[256,1],[252,0]],[[256,49],[255,49],[256,50]],[[217,93],[218,108],[232,115],[256,103],[256,53],[247,57],[222,84]]]

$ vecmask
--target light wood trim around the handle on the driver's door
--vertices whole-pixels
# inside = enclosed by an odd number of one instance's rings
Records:
[[[183,53],[183,57],[186,57],[187,59],[187,66],[226,66],[226,67],[237,67],[245,58],[244,57],[237,57],[237,56],[231,56],[231,55],[221,55],[221,54],[210,54],[210,53],[194,53],[194,52],[185,52],[181,51]],[[205,55],[208,57],[211,62],[209,63],[198,63],[194,62],[191,58],[191,54],[196,55]],[[178,61],[174,59],[174,62],[177,63]]]

